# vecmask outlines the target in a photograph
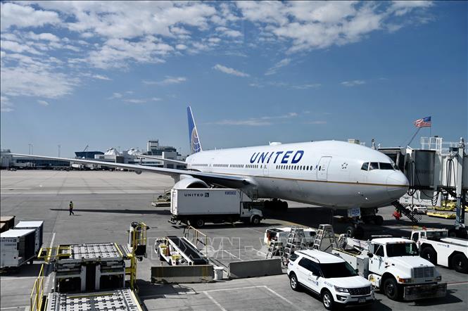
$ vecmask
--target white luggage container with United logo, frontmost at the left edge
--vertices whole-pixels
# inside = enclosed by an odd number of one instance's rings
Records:
[[[34,229],[10,229],[0,234],[0,267],[16,268],[25,262],[32,263],[36,256]]]

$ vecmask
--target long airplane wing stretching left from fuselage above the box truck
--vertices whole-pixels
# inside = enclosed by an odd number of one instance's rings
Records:
[[[134,164],[124,164],[124,163],[114,163],[114,162],[104,162],[96,160],[83,160],[83,159],[71,159],[71,158],[57,158],[57,157],[48,157],[44,155],[27,155],[20,153],[10,153],[15,156],[23,156],[27,158],[38,158],[38,159],[47,159],[47,160],[61,160],[72,163],[82,163],[82,164],[94,164],[101,165],[106,167],[115,167],[115,168],[124,168],[127,170],[134,170],[135,172],[152,172],[156,174],[165,174],[172,177],[177,177],[180,175],[190,175],[198,179],[203,180],[203,182],[208,182],[210,184],[216,184],[218,186],[234,187],[241,188],[248,184],[254,184],[254,182],[248,177],[236,176],[236,175],[226,175],[226,174],[217,174],[209,172],[197,172],[193,170],[176,170],[172,168],[163,168],[163,167],[151,167],[147,165],[134,165]]]

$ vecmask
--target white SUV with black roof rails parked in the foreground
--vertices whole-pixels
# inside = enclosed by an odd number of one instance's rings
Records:
[[[367,305],[374,302],[374,288],[341,257],[320,250],[297,250],[288,264],[289,284],[301,286],[322,298],[324,307]]]

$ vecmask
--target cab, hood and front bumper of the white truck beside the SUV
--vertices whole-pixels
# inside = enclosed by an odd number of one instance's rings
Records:
[[[443,297],[446,284],[441,281],[435,266],[419,257],[414,241],[400,238],[374,239],[369,244],[369,276],[372,285],[386,293],[388,298],[415,300]],[[427,285],[427,286],[426,286]]]

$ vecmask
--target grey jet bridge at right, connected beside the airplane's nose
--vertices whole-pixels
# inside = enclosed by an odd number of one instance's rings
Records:
[[[379,148],[388,155],[405,173],[410,182],[408,195],[419,194],[431,205],[440,202],[440,197],[452,196],[456,199],[455,228],[450,232],[466,237],[464,207],[468,195],[468,150],[464,139],[459,142],[444,142],[442,137],[422,137],[422,148]],[[405,207],[395,203],[400,210]],[[403,207],[403,208],[401,208]],[[416,218],[415,218],[416,219]]]

